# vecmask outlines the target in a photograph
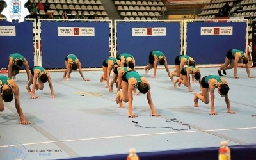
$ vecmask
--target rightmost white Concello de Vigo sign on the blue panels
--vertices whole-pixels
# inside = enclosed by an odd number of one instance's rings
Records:
[[[201,35],[233,35],[233,27],[201,27]]]

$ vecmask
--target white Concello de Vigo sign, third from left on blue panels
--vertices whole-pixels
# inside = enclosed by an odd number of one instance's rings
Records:
[[[166,36],[166,28],[132,28],[132,36]]]

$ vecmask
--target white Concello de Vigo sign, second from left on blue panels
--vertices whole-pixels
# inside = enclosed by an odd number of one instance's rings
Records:
[[[95,28],[58,27],[58,36],[95,36]]]

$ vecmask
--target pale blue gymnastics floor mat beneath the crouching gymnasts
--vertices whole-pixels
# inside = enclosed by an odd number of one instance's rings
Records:
[[[218,74],[218,68],[200,68],[202,77]],[[174,69],[170,68],[170,72]],[[57,98],[49,98],[45,83],[37,91],[38,99],[30,99],[26,90],[24,72],[17,75],[20,104],[30,125],[20,125],[14,100],[4,103],[0,113],[0,159],[65,159],[111,154],[126,154],[129,148],[137,152],[218,147],[227,140],[229,145],[256,143],[256,78],[249,79],[245,68],[238,68],[239,79],[233,79],[234,70],[227,70],[232,111],[227,114],[224,98],[215,91],[215,111],[209,115],[210,104],[200,100],[193,106],[193,94],[200,92],[198,83],[188,88],[173,87],[166,70],[157,69],[157,78],[137,70],[150,83],[152,100],[160,117],[150,116],[146,95],[134,96],[134,113],[128,118],[127,104],[118,108],[116,88],[109,92],[100,83],[102,70],[84,71],[90,81],[82,81],[79,72],[72,72],[68,82],[62,81],[63,72],[51,72]],[[250,69],[256,77],[256,70]],[[177,79],[177,77],[174,77]],[[84,96],[81,96],[84,95]],[[166,122],[166,120],[173,120]],[[144,127],[136,127],[137,125]],[[180,124],[179,122],[183,124]],[[169,127],[169,128],[164,128]],[[190,127],[190,128],[189,128]]]

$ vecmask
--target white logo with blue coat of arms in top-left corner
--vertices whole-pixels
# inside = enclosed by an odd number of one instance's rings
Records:
[[[27,1],[21,0],[4,0],[6,2],[6,7],[2,11],[5,15],[7,21],[13,22],[23,22],[24,18],[29,15],[28,9],[25,8],[25,3]]]

